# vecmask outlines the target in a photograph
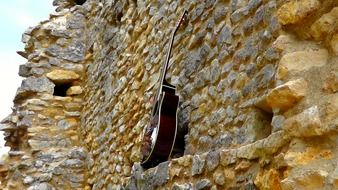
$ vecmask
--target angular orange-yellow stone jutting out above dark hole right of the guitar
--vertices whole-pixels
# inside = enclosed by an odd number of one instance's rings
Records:
[[[273,89],[266,96],[266,104],[271,109],[285,111],[300,101],[307,92],[307,82],[304,79],[289,81]]]

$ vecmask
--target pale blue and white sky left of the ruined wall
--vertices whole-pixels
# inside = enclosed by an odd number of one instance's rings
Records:
[[[19,65],[26,60],[16,54],[23,50],[21,34],[29,27],[48,19],[53,0],[0,0],[0,120],[11,113],[16,89],[22,78]],[[2,146],[0,136],[0,152]]]

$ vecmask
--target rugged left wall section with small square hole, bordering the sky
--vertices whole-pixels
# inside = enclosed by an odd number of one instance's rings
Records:
[[[9,159],[0,189],[84,189],[87,151],[80,136],[86,48],[85,10],[51,15],[29,28],[20,55],[25,77],[13,113],[2,121]]]

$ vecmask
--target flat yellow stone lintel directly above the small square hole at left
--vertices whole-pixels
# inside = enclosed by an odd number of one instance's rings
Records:
[[[74,71],[67,70],[53,70],[46,74],[46,76],[55,83],[69,83],[80,78],[80,75],[76,74]]]

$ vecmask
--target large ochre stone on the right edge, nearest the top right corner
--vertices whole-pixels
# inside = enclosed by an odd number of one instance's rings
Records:
[[[329,13],[324,14],[311,26],[311,35],[316,40],[332,34],[338,29],[338,7],[333,8]]]

